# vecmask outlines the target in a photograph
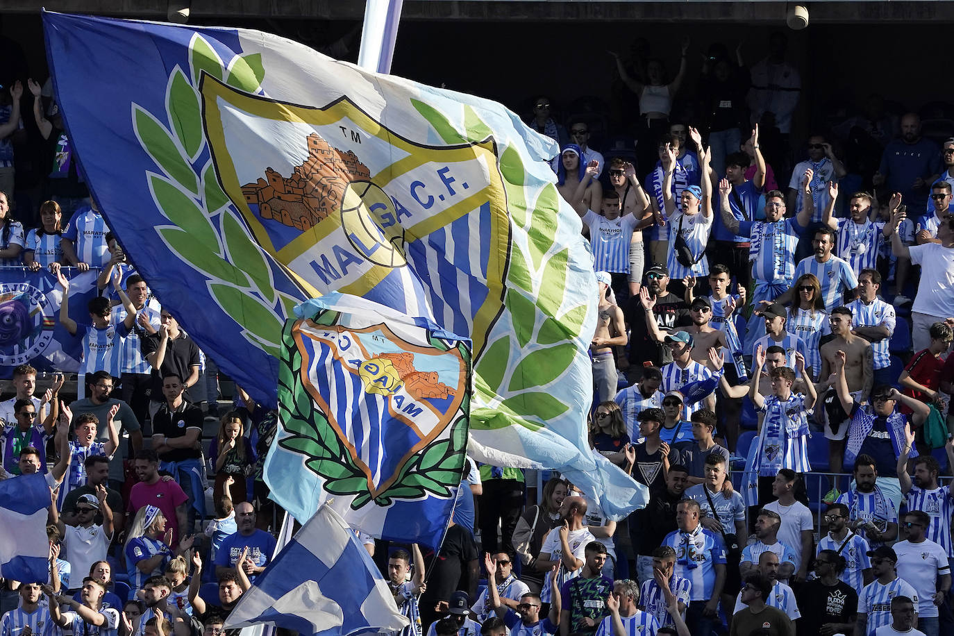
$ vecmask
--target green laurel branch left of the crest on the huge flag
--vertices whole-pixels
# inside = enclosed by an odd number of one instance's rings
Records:
[[[189,69],[176,66],[165,92],[165,113],[133,104],[133,126],[158,172],[147,173],[156,207],[168,220],[159,238],[176,256],[203,274],[209,293],[242,327],[242,336],[279,358],[281,328],[303,297],[275,289],[259,245],[231,207],[206,149],[197,87],[203,72],[244,92],[259,92],[265,76],[259,53],[235,55],[227,64],[194,33]],[[168,122],[168,123],[167,123]],[[171,125],[170,125],[171,124]]]

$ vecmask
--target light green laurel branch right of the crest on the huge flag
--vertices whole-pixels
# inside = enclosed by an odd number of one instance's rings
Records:
[[[461,125],[456,126],[433,107],[411,102],[446,143],[481,142],[490,133],[467,106],[457,113]],[[580,331],[591,305],[565,306],[570,254],[554,247],[559,245],[559,223],[565,222],[557,215],[555,186],[533,185],[515,148],[502,149],[499,165],[512,241],[506,311],[494,332],[513,337],[488,339],[475,358],[470,426],[490,430],[517,424],[536,430],[570,410],[557,387],[570,366],[587,354],[590,339]]]

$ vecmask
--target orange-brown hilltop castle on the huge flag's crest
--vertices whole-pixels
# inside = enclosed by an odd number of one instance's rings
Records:
[[[265,176],[241,187],[245,201],[259,206],[259,216],[302,232],[337,211],[353,180],[370,180],[371,173],[351,151],[342,153],[318,133],[308,139],[308,157],[288,177],[265,169]]]

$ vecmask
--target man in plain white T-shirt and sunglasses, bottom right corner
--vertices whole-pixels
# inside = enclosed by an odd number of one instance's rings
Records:
[[[921,510],[904,514],[902,529],[907,539],[894,544],[898,555],[898,576],[918,590],[918,628],[927,636],[938,636],[938,607],[951,588],[951,570],[941,545],[927,538],[930,518]]]

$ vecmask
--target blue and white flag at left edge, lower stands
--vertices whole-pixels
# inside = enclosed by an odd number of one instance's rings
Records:
[[[46,583],[47,508],[50,486],[40,473],[0,482],[0,577],[23,583]]]

